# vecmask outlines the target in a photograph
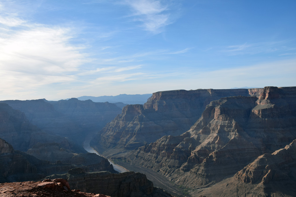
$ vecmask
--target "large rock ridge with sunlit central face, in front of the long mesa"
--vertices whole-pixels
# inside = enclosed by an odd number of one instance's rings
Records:
[[[206,187],[291,143],[296,138],[295,98],[295,87],[265,87],[259,98],[212,101],[189,131],[163,136],[122,159],[179,185]]]

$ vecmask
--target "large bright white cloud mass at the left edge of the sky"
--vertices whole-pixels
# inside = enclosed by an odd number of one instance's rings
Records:
[[[28,94],[48,84],[73,82],[88,62],[83,46],[70,44],[73,29],[30,23],[16,13],[0,13],[0,83],[2,94]]]

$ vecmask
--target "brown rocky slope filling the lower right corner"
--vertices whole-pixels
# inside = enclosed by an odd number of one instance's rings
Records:
[[[296,196],[296,140],[194,196]]]

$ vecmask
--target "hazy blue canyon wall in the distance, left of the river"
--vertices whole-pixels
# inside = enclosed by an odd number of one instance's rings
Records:
[[[24,113],[28,121],[52,135],[68,137],[82,143],[86,133],[102,129],[121,112],[113,103],[97,103],[91,100],[47,101],[5,100],[1,101]]]

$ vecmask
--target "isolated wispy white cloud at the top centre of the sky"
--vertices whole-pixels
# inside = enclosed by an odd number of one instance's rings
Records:
[[[126,0],[132,8],[134,21],[142,22],[145,30],[154,34],[163,31],[163,27],[172,23],[168,2],[155,0]]]

